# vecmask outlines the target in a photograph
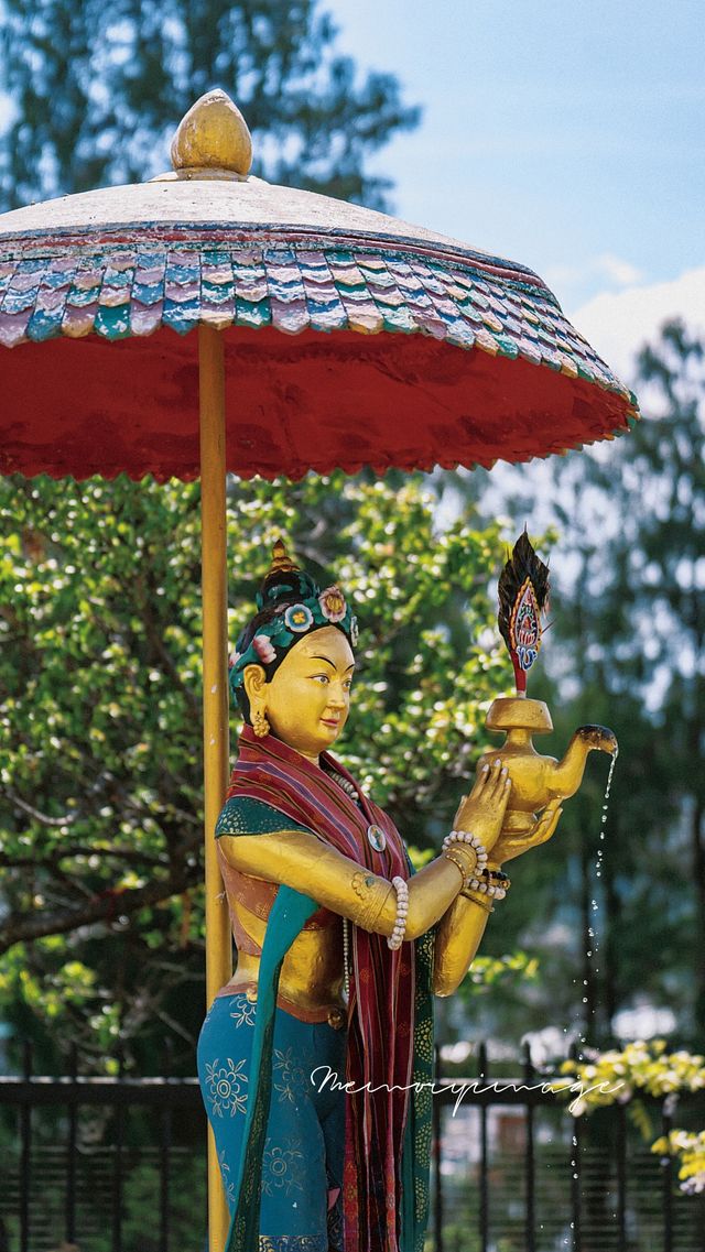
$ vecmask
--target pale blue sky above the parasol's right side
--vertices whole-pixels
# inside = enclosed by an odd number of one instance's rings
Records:
[[[373,160],[412,223],[520,260],[631,382],[675,314],[705,329],[702,0],[322,0],[421,126]]]

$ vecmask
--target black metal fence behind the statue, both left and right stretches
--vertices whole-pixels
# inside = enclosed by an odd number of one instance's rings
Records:
[[[528,1050],[492,1079],[485,1045],[475,1077],[437,1078],[428,1252],[705,1252],[705,1197],[677,1191],[627,1107],[572,1118],[546,1083]],[[654,1134],[674,1112],[652,1102]],[[26,1049],[0,1113],[0,1252],[202,1252],[195,1078],[81,1077],[75,1057],[48,1078]]]

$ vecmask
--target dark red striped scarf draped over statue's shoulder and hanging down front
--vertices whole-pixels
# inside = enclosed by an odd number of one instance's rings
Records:
[[[273,735],[257,739],[245,726],[228,799],[260,800],[374,874],[406,880],[412,870],[394,824],[362,793],[358,806],[326,772],[336,770],[357,788],[334,757],[326,754],[322,766]],[[384,831],[382,853],[367,839],[371,825]],[[413,1082],[414,947],[403,943],[391,952],[383,935],[352,926],[351,954],[346,1082],[364,1089],[347,1097],[344,1246],[346,1252],[399,1252],[402,1149]]]

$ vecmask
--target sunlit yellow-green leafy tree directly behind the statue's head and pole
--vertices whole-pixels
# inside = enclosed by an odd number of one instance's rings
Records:
[[[96,1055],[202,1002],[198,486],[0,485],[0,994]],[[283,533],[359,608],[346,760],[408,841],[446,833],[506,680],[496,527],[421,478],[233,481],[232,636]],[[462,612],[460,611],[462,608]]]

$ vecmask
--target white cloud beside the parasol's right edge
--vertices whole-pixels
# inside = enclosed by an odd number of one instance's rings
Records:
[[[705,334],[705,265],[669,283],[604,292],[570,314],[574,326],[625,383],[634,382],[639,349],[656,339],[664,322],[675,317]]]

